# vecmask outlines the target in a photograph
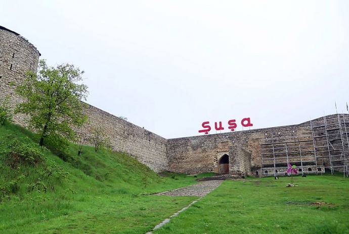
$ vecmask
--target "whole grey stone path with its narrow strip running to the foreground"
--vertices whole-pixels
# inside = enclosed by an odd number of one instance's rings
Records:
[[[199,201],[201,198],[205,197],[208,193],[210,193],[212,190],[214,190],[216,187],[220,186],[223,180],[211,180],[211,181],[204,181],[198,184],[190,185],[187,187],[183,188],[177,188],[174,190],[166,191],[166,192],[160,192],[157,193],[156,195],[166,195],[166,196],[195,196],[195,197],[200,197],[198,200],[195,200],[188,206],[184,207],[182,210],[174,213],[173,215],[169,216],[169,218],[163,220],[161,223],[156,225],[151,231],[148,231],[146,234],[152,234],[153,230],[156,230],[166,223],[168,223],[171,218],[176,217],[179,215],[181,212],[185,211],[188,209],[191,205]]]

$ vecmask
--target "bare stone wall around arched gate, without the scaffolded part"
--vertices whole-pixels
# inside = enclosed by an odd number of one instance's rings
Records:
[[[311,133],[310,122],[306,122],[300,125],[168,139],[168,170],[188,174],[217,172],[219,159],[228,154],[231,173],[252,174],[251,168],[257,168],[260,174],[260,144],[266,138],[297,136],[309,132]]]

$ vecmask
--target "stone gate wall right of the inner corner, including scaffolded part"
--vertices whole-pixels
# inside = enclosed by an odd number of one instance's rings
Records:
[[[300,173],[336,170],[348,175],[349,114],[327,115],[299,125],[167,140],[169,171],[222,173],[224,155],[229,155],[232,174],[285,175],[290,163]]]

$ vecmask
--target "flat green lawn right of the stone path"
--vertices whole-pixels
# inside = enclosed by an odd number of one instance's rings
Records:
[[[225,181],[154,233],[349,233],[342,175]],[[312,205],[320,202],[323,205]]]

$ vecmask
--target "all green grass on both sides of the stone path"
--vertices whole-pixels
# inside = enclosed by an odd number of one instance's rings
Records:
[[[0,233],[145,233],[197,199],[144,195],[194,184],[192,176],[159,176],[123,153],[83,146],[78,157],[77,145],[63,153],[36,142],[0,126]],[[347,178],[289,182],[225,181],[154,233],[349,233]]]

